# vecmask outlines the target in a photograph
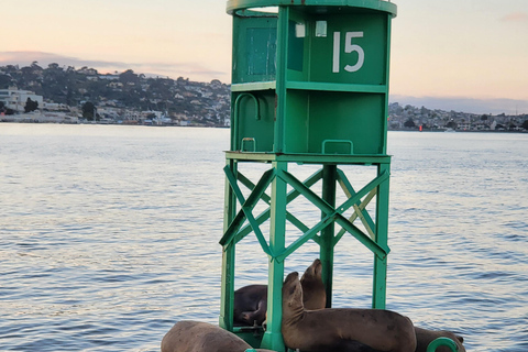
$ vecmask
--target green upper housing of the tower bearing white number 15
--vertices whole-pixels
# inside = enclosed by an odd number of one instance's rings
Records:
[[[385,155],[396,4],[229,0],[228,12],[231,151]]]

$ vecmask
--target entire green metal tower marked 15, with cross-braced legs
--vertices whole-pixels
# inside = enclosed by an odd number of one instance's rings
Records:
[[[227,9],[233,19],[233,57],[220,326],[254,348],[284,351],[284,261],[309,240],[320,246],[327,307],[333,250],[350,233],[373,253],[372,306],[385,308],[388,67],[396,6],[381,0],[230,0]],[[241,163],[265,163],[268,169],[252,183],[239,170]],[[288,170],[290,164],[320,169],[299,180]],[[343,165],[374,168],[375,176],[356,190]],[[319,193],[311,188],[316,183],[322,185]],[[241,186],[250,190],[248,197]],[[338,187],[346,196],[339,205]],[[308,227],[288,210],[297,197],[320,210],[317,224]],[[253,213],[262,201],[267,209]],[[371,201],[372,215],[366,209]],[[289,245],[287,223],[301,232]],[[233,327],[235,245],[249,234],[256,235],[268,258],[267,329],[257,329],[256,337]]]

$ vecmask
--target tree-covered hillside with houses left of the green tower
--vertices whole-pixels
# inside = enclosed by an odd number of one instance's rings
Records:
[[[28,111],[28,99],[37,101],[37,109]],[[74,122],[224,127],[230,116],[230,87],[217,79],[147,77],[131,69],[99,74],[94,68],[58,64],[0,66],[2,101],[4,121],[23,114],[25,120],[40,122],[68,118]]]

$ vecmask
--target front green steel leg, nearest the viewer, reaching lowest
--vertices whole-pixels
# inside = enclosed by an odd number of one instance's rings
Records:
[[[273,163],[277,169],[287,168],[287,163]],[[270,222],[270,248],[272,253],[284,251],[286,238],[286,183],[275,177],[272,183],[272,205]],[[283,320],[283,280],[284,262],[270,257],[270,275],[267,290],[267,330],[262,339],[261,348],[284,351],[280,323]]]

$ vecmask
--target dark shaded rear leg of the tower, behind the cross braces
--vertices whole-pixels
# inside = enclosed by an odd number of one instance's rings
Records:
[[[336,208],[336,182],[338,177],[336,165],[324,165],[322,168],[322,199]],[[322,218],[327,213],[322,212]],[[322,263],[322,282],[327,289],[327,308],[332,307],[333,283],[333,235],[336,223],[331,222],[321,231],[320,258]]]

